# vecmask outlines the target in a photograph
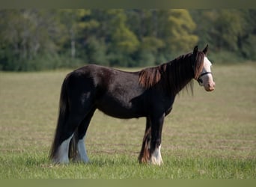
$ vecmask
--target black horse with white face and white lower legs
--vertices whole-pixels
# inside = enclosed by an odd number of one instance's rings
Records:
[[[171,112],[175,96],[192,79],[213,91],[215,82],[208,45],[172,61],[137,72],[126,72],[88,64],[68,73],[61,86],[58,123],[49,159],[55,164],[89,162],[85,148],[94,111],[118,118],[146,117],[140,163],[162,165],[161,139],[164,118]]]

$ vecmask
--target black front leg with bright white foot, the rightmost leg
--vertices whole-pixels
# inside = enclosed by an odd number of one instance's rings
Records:
[[[150,163],[153,165],[162,165],[161,141],[162,141],[162,125],[165,115],[152,117],[151,119],[151,141],[150,141]]]

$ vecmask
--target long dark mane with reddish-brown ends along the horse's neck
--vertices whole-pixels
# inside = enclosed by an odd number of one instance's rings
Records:
[[[144,88],[151,88],[161,83],[162,88],[168,88],[173,94],[178,93],[184,87],[188,90],[187,85],[190,85],[192,91],[192,79],[198,79],[203,65],[204,52],[198,52],[196,55],[193,53],[180,55],[165,64],[141,70],[138,82]]]

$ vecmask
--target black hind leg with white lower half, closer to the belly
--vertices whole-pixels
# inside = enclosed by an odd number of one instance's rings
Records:
[[[89,113],[86,115],[85,119],[82,120],[82,123],[80,123],[78,129],[77,129],[77,150],[78,150],[78,155],[76,156],[76,161],[77,162],[84,162],[87,163],[89,162],[88,156],[87,156],[87,151],[85,147],[85,134],[87,132],[89,123],[91,121],[91,117],[93,116],[95,111],[95,108],[91,109]]]

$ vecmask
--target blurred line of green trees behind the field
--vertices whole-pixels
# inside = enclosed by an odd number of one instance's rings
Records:
[[[214,62],[256,60],[256,10],[0,10],[0,70],[145,67],[210,46]]]

